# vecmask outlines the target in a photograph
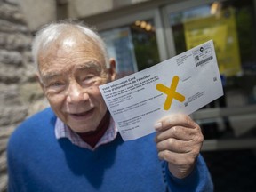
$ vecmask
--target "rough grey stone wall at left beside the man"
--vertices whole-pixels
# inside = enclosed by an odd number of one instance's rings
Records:
[[[28,31],[19,0],[0,0],[0,191],[6,191],[6,144],[28,116],[47,105],[34,76]]]

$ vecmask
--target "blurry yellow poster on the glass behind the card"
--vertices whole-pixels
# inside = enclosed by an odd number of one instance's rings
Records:
[[[234,9],[189,20],[184,23],[184,31],[187,49],[213,40],[221,75],[236,76],[241,72]]]

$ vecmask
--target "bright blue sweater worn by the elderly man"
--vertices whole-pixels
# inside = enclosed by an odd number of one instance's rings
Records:
[[[177,179],[157,158],[154,134],[116,140],[95,151],[57,140],[51,108],[30,117],[12,133],[7,147],[10,192],[212,191],[202,156],[186,179]]]

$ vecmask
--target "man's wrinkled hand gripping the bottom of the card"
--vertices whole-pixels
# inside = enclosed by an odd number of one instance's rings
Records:
[[[187,115],[165,116],[155,125],[158,156],[168,162],[172,175],[185,178],[193,171],[204,136]]]

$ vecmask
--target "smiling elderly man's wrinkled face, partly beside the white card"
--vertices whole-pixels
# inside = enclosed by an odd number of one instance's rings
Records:
[[[90,41],[84,45],[77,38],[54,44],[39,55],[44,94],[55,114],[74,132],[95,131],[100,124],[107,106],[99,85],[113,80],[109,71],[98,46]]]

